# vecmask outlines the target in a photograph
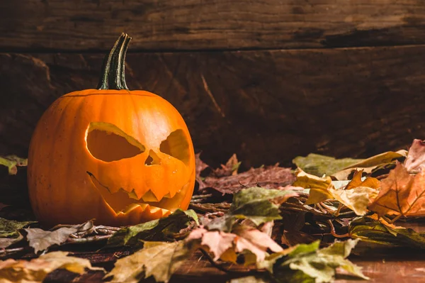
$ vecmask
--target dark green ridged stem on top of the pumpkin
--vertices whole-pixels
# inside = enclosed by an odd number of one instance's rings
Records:
[[[128,89],[125,83],[125,54],[127,53],[130,36],[122,33],[111,51],[103,60],[101,79],[97,89]]]

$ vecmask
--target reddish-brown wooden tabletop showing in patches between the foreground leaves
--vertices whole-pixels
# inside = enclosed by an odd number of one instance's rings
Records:
[[[402,223],[402,226],[414,228],[416,231],[425,231],[425,223]],[[103,253],[77,252],[74,255],[91,260],[95,266],[111,270],[113,262],[119,257],[129,255],[129,250],[108,250]],[[358,280],[348,275],[339,274],[337,283],[348,282],[425,282],[425,251],[412,248],[386,248],[383,246],[359,243],[356,250],[349,257],[356,265],[363,267],[363,272],[370,280]],[[227,265],[230,270],[246,271],[237,265]],[[190,260],[183,263],[171,278],[171,283],[200,282],[218,283],[227,282],[238,274],[227,274],[213,267],[201,253],[194,253]],[[102,282],[103,272],[88,272],[76,276],[71,272],[57,270],[52,272],[45,282]],[[150,280],[146,280],[150,282]],[[153,282],[153,281],[152,281]]]

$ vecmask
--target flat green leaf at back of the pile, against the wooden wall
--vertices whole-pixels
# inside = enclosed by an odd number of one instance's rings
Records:
[[[309,174],[322,177],[323,174],[330,176],[361,161],[363,160],[352,158],[335,159],[334,157],[310,153],[307,157],[295,157],[293,163]]]

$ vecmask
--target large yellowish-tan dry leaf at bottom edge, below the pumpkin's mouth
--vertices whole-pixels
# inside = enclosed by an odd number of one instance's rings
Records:
[[[105,277],[113,276],[113,283],[137,283],[151,276],[156,282],[169,282],[171,275],[190,255],[191,250],[182,241],[144,242],[142,250],[117,260]]]

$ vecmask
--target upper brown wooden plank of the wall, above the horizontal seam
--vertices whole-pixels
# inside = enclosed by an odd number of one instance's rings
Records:
[[[0,50],[222,50],[425,43],[421,0],[20,0],[0,3]]]

